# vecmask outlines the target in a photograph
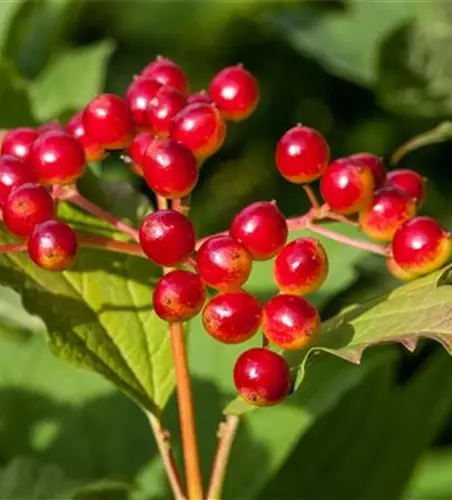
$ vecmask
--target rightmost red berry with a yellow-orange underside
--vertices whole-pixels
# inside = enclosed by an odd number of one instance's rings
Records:
[[[406,272],[420,276],[443,266],[451,253],[450,235],[430,217],[415,217],[397,230],[392,255]]]

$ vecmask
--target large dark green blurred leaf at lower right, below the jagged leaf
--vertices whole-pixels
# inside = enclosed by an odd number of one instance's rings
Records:
[[[444,381],[451,375],[443,351],[402,384],[393,367],[374,370],[311,428],[262,498],[400,498],[418,458],[447,423],[452,394]],[[434,498],[419,493],[415,498]]]

